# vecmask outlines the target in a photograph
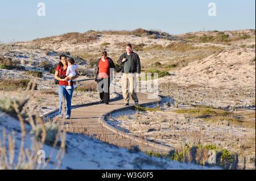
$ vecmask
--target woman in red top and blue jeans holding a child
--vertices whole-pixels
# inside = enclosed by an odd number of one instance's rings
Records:
[[[69,78],[66,77],[68,68],[68,61],[67,56],[65,54],[61,54],[60,56],[60,62],[59,65],[57,65],[57,68],[55,70],[55,79],[59,81],[58,85],[58,92],[59,92],[59,117],[62,116],[62,109],[63,109],[63,103],[65,103],[65,100],[67,102],[67,108],[66,108],[66,119],[71,118],[71,100],[73,95],[73,82],[71,82],[72,89],[67,90],[66,87],[68,86],[68,80]],[[72,77],[72,79],[76,79],[78,76],[76,74],[75,77]]]

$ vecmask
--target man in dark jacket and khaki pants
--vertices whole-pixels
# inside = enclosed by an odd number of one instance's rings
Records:
[[[131,44],[126,45],[126,53],[123,53],[118,61],[118,65],[122,66],[122,93],[124,106],[129,106],[129,92],[131,98],[133,98],[134,103],[137,105],[139,103],[137,97],[137,77],[141,74],[141,60],[137,53],[133,52],[133,47]]]

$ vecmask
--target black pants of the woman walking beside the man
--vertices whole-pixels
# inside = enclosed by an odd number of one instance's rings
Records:
[[[109,102],[109,86],[110,86],[110,78],[101,78],[97,80],[98,85],[97,89],[100,92],[100,98],[104,102],[108,101]]]

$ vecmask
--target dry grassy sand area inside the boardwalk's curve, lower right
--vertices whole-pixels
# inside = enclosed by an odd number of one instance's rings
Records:
[[[233,112],[209,106],[174,109],[165,105],[160,108],[161,110],[153,108],[152,111],[143,108],[133,115],[120,115],[111,120],[135,136],[163,142],[175,148],[168,157],[151,152],[150,155],[190,162],[193,148],[196,150],[194,162],[205,165],[205,159],[208,157],[203,153],[208,153],[209,149],[202,148],[212,145],[216,152],[222,150],[222,158],[235,158],[232,162],[226,163],[234,163],[233,166],[239,163],[250,168],[251,164],[255,164],[255,111]],[[242,133],[241,129],[244,130]],[[236,155],[239,160],[234,157]],[[245,163],[243,159],[246,159]],[[221,157],[219,163],[220,160]],[[226,161],[222,159],[224,160]],[[232,166],[229,166],[224,167],[231,169]]]

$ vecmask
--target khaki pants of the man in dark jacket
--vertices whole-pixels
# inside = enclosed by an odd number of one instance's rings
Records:
[[[138,100],[137,91],[135,91],[137,88],[136,74],[123,73],[121,82],[124,102],[129,103],[129,93],[131,94],[131,98],[133,98],[134,101]]]

